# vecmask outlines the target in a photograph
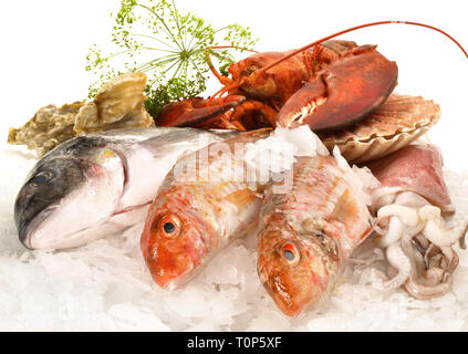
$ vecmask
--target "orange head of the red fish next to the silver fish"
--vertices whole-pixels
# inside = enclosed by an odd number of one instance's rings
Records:
[[[214,249],[217,238],[198,197],[184,186],[173,186],[149,209],[141,246],[154,281],[163,289],[187,283]]]

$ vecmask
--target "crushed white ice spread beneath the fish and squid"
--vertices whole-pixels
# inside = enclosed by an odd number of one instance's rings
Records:
[[[305,152],[306,153],[306,152]],[[142,225],[67,251],[29,251],[18,241],[13,202],[34,164],[0,157],[0,330],[2,331],[467,331],[468,254],[454,289],[428,301],[379,287],[382,259],[361,248],[331,296],[298,319],[281,314],[256,270],[254,233],[233,242],[186,288],[153,283],[139,251]],[[458,215],[468,212],[468,174],[446,171]]]

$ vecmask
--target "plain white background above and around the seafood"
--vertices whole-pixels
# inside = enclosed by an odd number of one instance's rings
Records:
[[[40,107],[87,96],[92,76],[85,55],[97,43],[110,43],[111,11],[117,0],[2,1],[0,21],[0,139],[9,126],[20,126]],[[408,20],[438,27],[468,48],[467,1],[214,1],[177,0],[215,28],[250,27],[259,51],[302,46],[333,32],[365,22]],[[468,61],[441,34],[391,24],[349,33],[343,39],[378,44],[399,69],[398,93],[423,95],[441,105],[443,117],[429,137],[444,153],[446,167],[468,170]],[[219,86],[212,85],[206,95]]]

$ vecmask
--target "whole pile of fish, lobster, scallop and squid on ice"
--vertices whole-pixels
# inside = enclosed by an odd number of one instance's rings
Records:
[[[298,316],[373,240],[387,260],[386,289],[449,292],[468,217],[444,219],[455,210],[441,154],[417,140],[438,122],[438,104],[394,94],[396,63],[349,41],[257,53],[229,71],[215,73],[225,87],[211,98],[166,106],[157,127],[74,137],[49,152],[17,197],[22,243],[69,249],[144,221],[147,269],[177,290],[253,231],[259,285]],[[100,113],[100,97],[80,108],[74,132],[127,126],[115,101]]]

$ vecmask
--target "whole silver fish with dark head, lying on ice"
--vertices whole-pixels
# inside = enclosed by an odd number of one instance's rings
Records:
[[[19,238],[30,249],[72,248],[143,221],[179,156],[235,134],[153,127],[70,139],[39,160],[20,189]]]

